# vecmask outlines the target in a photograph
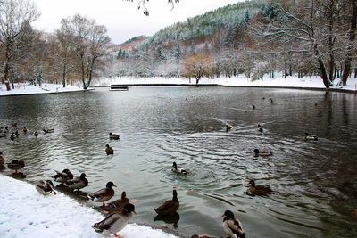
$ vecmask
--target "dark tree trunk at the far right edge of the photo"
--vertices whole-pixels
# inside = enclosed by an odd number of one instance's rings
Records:
[[[345,58],[345,69],[342,75],[342,82],[344,86],[347,85],[347,78],[351,73],[351,64],[352,64],[352,56],[353,56],[353,41],[356,37],[356,28],[357,28],[357,3],[355,0],[351,0],[352,6],[352,16],[351,16],[351,29],[349,31],[350,35],[350,46],[348,47],[348,52]]]

